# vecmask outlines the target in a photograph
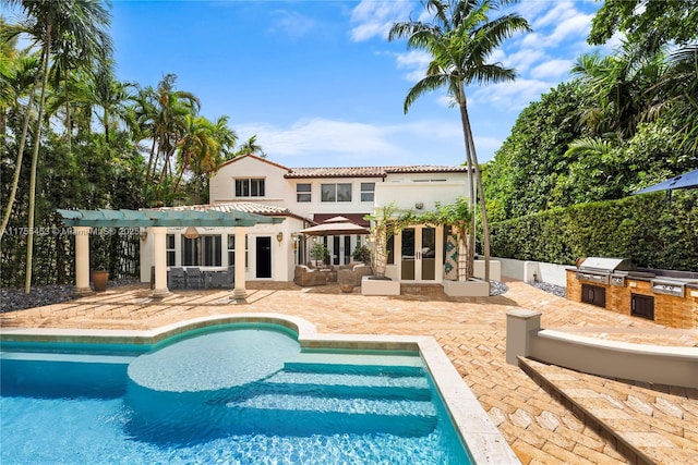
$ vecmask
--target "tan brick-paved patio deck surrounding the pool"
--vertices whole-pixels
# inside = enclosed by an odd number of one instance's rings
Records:
[[[698,463],[698,390],[650,387],[525,360],[505,362],[506,314],[542,313],[546,329],[641,344],[698,347],[698,330],[556,297],[520,281],[495,297],[363,296],[337,285],[249,282],[245,304],[228,291],[161,299],[141,285],[0,314],[3,328],[149,330],[214,315],[273,311],[320,333],[432,335],[524,464]]]

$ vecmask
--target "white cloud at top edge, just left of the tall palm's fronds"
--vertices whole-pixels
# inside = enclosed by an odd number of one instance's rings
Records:
[[[407,21],[412,7],[410,1],[362,0],[351,11],[351,39],[362,41],[373,37],[387,38],[393,24]]]

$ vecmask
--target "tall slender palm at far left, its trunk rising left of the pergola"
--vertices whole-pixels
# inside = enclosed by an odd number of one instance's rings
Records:
[[[29,175],[29,205],[28,205],[28,237],[26,250],[26,276],[24,292],[27,294],[32,287],[32,257],[34,248],[34,209],[36,200],[36,170],[38,164],[38,151],[40,146],[43,113],[48,84],[49,63],[55,51],[53,44],[60,42],[64,37],[71,37],[75,48],[81,50],[84,57],[97,59],[110,57],[112,51],[111,39],[107,33],[110,23],[110,14],[99,0],[11,0],[9,3],[19,3],[26,15],[21,32],[28,34],[33,41],[41,49],[41,84],[37,111],[37,129],[34,133],[34,151],[32,155],[32,171]],[[38,76],[38,75],[37,75]],[[38,82],[37,82],[38,83]],[[34,95],[35,89],[32,91]],[[29,118],[31,107],[27,107],[26,119]],[[20,144],[20,150],[24,149],[26,135]],[[19,157],[17,157],[19,158]]]

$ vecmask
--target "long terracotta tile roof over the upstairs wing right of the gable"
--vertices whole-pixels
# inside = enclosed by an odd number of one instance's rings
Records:
[[[465,173],[466,166],[437,167],[413,164],[406,167],[291,168],[286,179],[301,178],[385,178],[390,173]]]

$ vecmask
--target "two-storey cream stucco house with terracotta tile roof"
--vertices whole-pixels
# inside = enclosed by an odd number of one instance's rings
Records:
[[[305,262],[308,237],[298,232],[342,216],[363,220],[374,209],[392,203],[416,212],[468,196],[464,166],[398,166],[347,168],[287,168],[253,155],[225,163],[210,179],[209,205],[171,207],[172,210],[244,211],[282,219],[251,228],[168,228],[168,267],[226,268],[236,261],[236,233],[244,232],[245,270],[250,280],[292,281],[296,265]],[[191,237],[188,238],[186,236]],[[366,235],[316,237],[330,253],[332,265],[352,261]],[[312,241],[312,238],[311,238]],[[442,227],[414,225],[390,242],[386,276],[401,282],[441,283],[453,266],[448,238]],[[141,279],[151,280],[153,241],[141,244]],[[236,269],[236,274],[238,269]],[[455,274],[454,274],[455,277]]]

